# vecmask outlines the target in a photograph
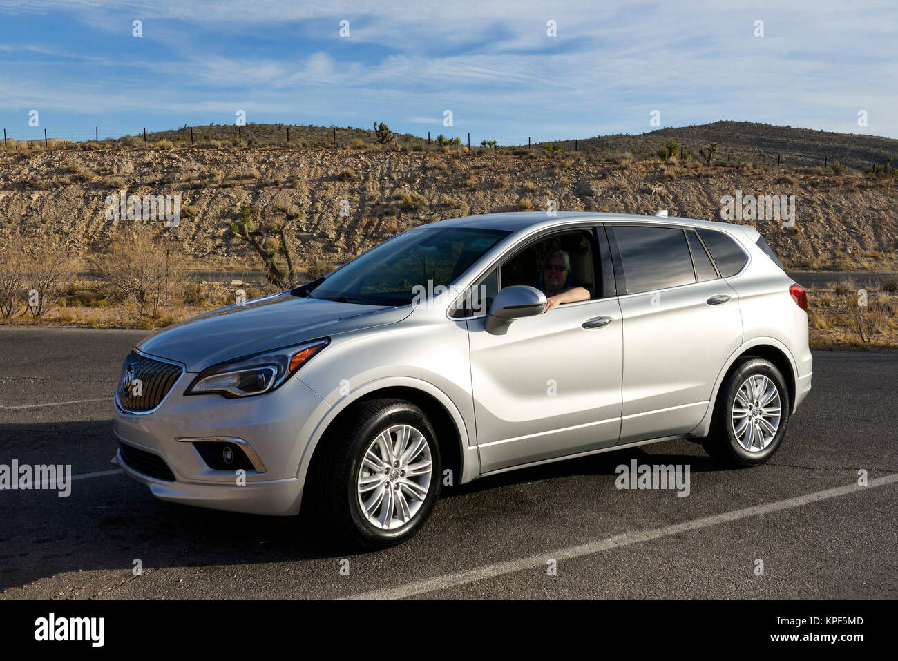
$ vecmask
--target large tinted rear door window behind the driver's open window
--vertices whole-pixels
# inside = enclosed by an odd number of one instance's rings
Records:
[[[617,226],[613,232],[628,294],[695,282],[689,245],[681,229]]]

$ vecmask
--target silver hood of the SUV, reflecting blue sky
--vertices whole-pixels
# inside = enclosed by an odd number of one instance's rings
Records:
[[[400,322],[411,306],[384,307],[300,298],[290,292],[262,296],[199,314],[145,338],[136,348],[176,360],[188,372],[309,339]]]

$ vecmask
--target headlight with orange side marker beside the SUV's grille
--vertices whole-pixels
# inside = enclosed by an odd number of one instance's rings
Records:
[[[233,398],[271,392],[328,344],[330,338],[316,339],[295,347],[278,348],[207,367],[190,383],[184,394],[217,392]]]

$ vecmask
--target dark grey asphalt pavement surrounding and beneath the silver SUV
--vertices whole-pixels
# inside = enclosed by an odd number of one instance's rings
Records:
[[[0,330],[0,464],[114,471],[111,392],[144,335]],[[330,549],[303,520],[163,503],[120,473],[75,480],[67,498],[4,490],[0,598],[341,597],[427,579],[437,587],[409,594],[895,598],[898,482],[676,526],[856,485],[859,471],[869,480],[898,473],[896,376],[898,353],[815,352],[814,389],[762,467],[723,470],[678,440],[509,472],[445,490],[415,538],[362,555]],[[45,405],[54,402],[68,403]],[[690,495],[616,489],[615,467],[632,459],[688,464]],[[616,535],[637,539],[547,572],[553,552]],[[529,558],[527,568],[495,569]],[[477,579],[441,582],[470,570]]]

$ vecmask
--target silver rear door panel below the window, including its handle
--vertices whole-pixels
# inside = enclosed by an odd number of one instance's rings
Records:
[[[699,424],[721,367],[742,344],[737,299],[723,279],[621,297],[620,443],[685,434]]]

